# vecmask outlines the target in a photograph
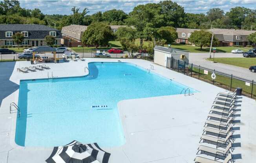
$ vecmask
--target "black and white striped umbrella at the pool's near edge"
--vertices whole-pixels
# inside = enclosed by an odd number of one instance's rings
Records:
[[[102,150],[97,143],[82,144],[78,141],[63,147],[54,147],[47,163],[108,163],[110,153]]]

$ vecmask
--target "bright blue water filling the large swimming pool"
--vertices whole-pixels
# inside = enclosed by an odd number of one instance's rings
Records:
[[[130,63],[93,62],[88,67],[91,78],[20,82],[18,145],[53,147],[73,140],[101,147],[123,145],[119,101],[180,94],[187,88]]]

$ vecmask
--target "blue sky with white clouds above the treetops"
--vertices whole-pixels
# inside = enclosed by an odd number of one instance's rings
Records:
[[[241,6],[256,9],[256,0],[173,0],[184,7],[186,13],[207,13],[213,7],[218,7],[224,12],[230,8]],[[73,6],[85,7],[93,14],[97,11],[121,9],[125,13],[132,11],[133,7],[140,4],[158,3],[159,0],[20,0],[21,7],[27,9],[39,8],[44,14],[71,14]]]

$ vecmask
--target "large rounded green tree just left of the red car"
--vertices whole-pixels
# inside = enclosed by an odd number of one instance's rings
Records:
[[[108,45],[108,42],[113,40],[114,33],[110,26],[102,22],[94,22],[89,25],[86,31],[82,34],[82,43],[85,45]]]

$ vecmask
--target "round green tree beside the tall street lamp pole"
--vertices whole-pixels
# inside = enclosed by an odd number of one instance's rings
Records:
[[[194,31],[191,33],[190,38],[188,38],[188,41],[199,46],[200,50],[202,50],[203,46],[204,47],[209,46],[211,43],[211,40],[212,40],[212,34],[204,30]],[[213,45],[219,44],[218,38],[216,38],[215,36],[213,37],[212,44]]]

